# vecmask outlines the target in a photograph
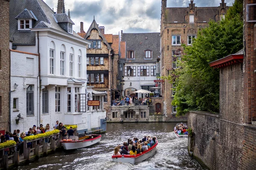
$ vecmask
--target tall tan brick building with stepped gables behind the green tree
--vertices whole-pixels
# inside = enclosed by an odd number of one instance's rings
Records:
[[[224,0],[217,7],[197,7],[191,0],[184,8],[167,8],[166,1],[162,0],[161,9],[161,76],[168,76],[169,70],[177,67],[172,57],[180,58],[181,44],[191,45],[199,29],[208,26],[210,20],[221,20],[228,9]],[[176,107],[171,105],[172,88],[169,82],[162,85],[163,107],[170,119],[176,114]]]

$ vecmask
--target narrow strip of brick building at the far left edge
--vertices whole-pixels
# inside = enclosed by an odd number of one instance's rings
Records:
[[[10,51],[9,0],[0,0],[0,131],[9,130]]]

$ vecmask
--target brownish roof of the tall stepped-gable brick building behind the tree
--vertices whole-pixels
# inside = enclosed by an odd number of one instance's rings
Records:
[[[196,7],[198,22],[215,20],[217,9],[218,7]],[[166,8],[166,22],[186,23],[186,10],[188,10],[187,7]]]

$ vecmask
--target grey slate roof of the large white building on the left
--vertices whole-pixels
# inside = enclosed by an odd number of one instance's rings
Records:
[[[55,30],[64,31],[61,26],[58,25],[54,18],[54,11],[44,3],[43,0],[11,0],[9,4],[9,23],[10,23],[10,40],[14,45],[35,45],[35,31],[18,31],[17,20],[15,17],[19,16],[26,8],[28,11],[32,11],[37,20],[32,23],[32,28],[53,28]],[[72,22],[73,23],[73,22]],[[71,35],[71,34],[70,34]],[[76,32],[73,31],[73,35],[81,38]]]

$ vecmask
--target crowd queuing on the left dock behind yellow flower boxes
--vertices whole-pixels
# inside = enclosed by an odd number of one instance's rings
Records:
[[[61,139],[67,139],[67,136],[74,135],[74,130],[72,127],[70,127],[70,129],[66,131],[66,127],[63,126],[63,124],[61,122],[59,123],[59,121],[56,121],[56,125],[54,126],[54,129],[58,129],[60,131],[59,137],[61,137]],[[26,136],[33,136],[33,135],[37,135],[40,133],[46,133],[48,131],[50,131],[49,124],[47,124],[45,127],[43,124],[40,124],[40,126],[33,125],[33,127],[30,127],[29,130],[22,132],[22,133],[20,132],[19,129],[14,130],[13,133],[6,131],[6,134],[0,133],[0,143],[7,142],[9,140],[15,141],[17,143],[15,150],[19,151],[19,154],[22,155],[23,154],[23,139]],[[48,143],[49,138],[46,138],[45,142]],[[32,143],[28,142],[27,147],[32,147]],[[9,155],[10,154],[9,148],[5,149],[4,152],[5,152],[5,155]]]

